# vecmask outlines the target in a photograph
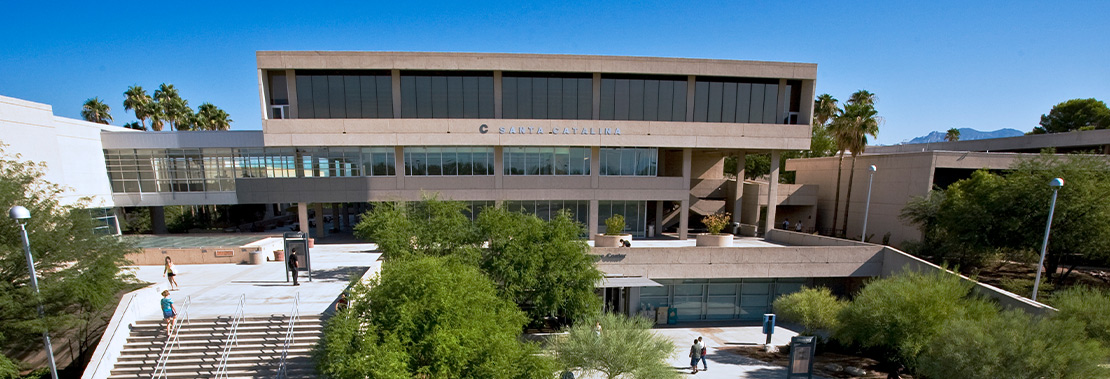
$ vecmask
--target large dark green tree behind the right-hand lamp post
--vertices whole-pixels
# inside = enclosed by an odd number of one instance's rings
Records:
[[[1061,262],[1104,262],[1110,255],[1110,161],[1100,156],[1041,154],[1002,173],[980,170],[946,190],[907,203],[902,219],[919,226],[911,251],[973,269],[991,255],[1040,250],[1053,178],[1063,178],[1052,220],[1047,272]]]

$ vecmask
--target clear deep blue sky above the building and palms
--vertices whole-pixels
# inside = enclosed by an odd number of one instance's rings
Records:
[[[473,51],[818,63],[818,93],[867,89],[878,143],[1013,128],[1072,98],[1110,101],[1110,1],[9,2],[0,94],[115,124],[123,91],[173,83],[260,129],[258,50]]]

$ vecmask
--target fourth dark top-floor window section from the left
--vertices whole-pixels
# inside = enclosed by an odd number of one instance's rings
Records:
[[[602,120],[686,121],[686,77],[602,74]]]

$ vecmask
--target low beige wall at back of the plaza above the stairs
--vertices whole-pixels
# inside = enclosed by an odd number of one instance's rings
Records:
[[[175,265],[244,263],[251,252],[262,251],[273,257],[271,251],[282,248],[281,238],[264,238],[244,246],[206,246],[195,248],[145,248],[141,252],[128,255],[137,266],[161,266],[165,257]]]

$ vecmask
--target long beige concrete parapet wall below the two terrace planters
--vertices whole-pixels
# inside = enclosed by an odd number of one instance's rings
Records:
[[[599,270],[650,279],[844,278],[882,272],[882,247],[594,248]]]

